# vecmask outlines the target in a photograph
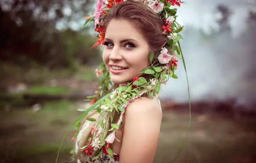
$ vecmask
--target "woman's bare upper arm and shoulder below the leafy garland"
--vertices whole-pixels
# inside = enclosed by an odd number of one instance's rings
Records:
[[[152,99],[137,99],[125,109],[120,163],[152,163],[162,111]]]

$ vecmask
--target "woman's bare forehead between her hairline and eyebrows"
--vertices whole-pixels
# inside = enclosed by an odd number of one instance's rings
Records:
[[[112,19],[107,26],[105,38],[113,39],[114,41],[122,39],[145,41],[143,34],[130,21],[124,19]]]

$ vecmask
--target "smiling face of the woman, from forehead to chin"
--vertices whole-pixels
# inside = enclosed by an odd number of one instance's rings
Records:
[[[149,66],[149,44],[127,20],[110,21],[104,45],[103,60],[115,84],[126,85]]]

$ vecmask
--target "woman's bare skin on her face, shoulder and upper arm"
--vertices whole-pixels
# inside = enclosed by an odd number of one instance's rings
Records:
[[[110,21],[105,34],[103,60],[112,82],[125,86],[128,81],[137,77],[149,65],[149,52],[149,44],[131,22],[115,19]],[[114,74],[111,72],[111,64],[128,69],[121,74]],[[162,110],[156,97],[142,97],[129,104],[123,118],[123,128],[116,134],[120,142],[113,142],[113,152],[120,154],[119,163],[152,163],[161,121]]]

